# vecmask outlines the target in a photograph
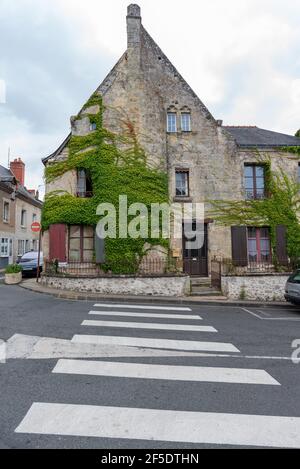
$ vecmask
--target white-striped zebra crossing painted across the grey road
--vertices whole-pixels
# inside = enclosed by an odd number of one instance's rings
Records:
[[[155,349],[186,352],[228,353],[238,356],[240,350],[231,343],[203,341],[205,337],[216,337],[218,331],[210,325],[202,325],[203,318],[191,308],[148,305],[96,304],[89,317],[100,320],[84,320],[82,334],[73,336],[77,344],[98,344],[110,347],[126,346],[133,350]],[[109,318],[109,319],[106,319]],[[150,322],[149,320],[158,322]],[[135,322],[138,321],[139,322]],[[159,323],[159,320],[164,321]],[[168,323],[177,320],[178,323]],[[182,320],[191,321],[190,325]],[[147,322],[145,322],[147,321]],[[198,325],[197,322],[199,321]],[[90,335],[86,334],[92,328]],[[95,335],[98,330],[101,334]],[[124,330],[124,335],[114,335],[115,329]],[[126,337],[130,330],[131,336]],[[168,333],[168,338],[161,336]],[[170,334],[176,332],[176,338]],[[186,340],[188,333],[201,334],[201,340]],[[143,337],[143,335],[158,337]],[[179,338],[178,338],[179,334]],[[182,336],[181,336],[182,334]],[[142,335],[142,336],[141,336]],[[214,355],[215,356],[215,355]],[[217,367],[178,366],[153,363],[101,361],[97,359],[59,359],[52,375],[93,376],[95,379],[119,378],[124,380],[154,380],[166,384],[218,383],[220,385],[282,386],[265,370]],[[188,384],[189,385],[189,384]],[[16,433],[48,436],[70,436],[82,438],[110,438],[117,440],[145,440],[151,442],[216,444],[259,447],[300,447],[300,418],[270,415],[248,415],[242,413],[191,412],[185,409],[169,410],[135,408],[124,406],[34,402],[15,430]]]

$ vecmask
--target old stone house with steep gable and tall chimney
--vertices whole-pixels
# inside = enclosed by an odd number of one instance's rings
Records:
[[[166,174],[166,198],[171,202],[205,203],[209,209],[209,200],[266,197],[266,172],[257,161],[257,150],[271,158],[272,167],[284,159],[287,173],[295,178],[299,174],[298,161],[289,158],[284,149],[300,146],[300,138],[255,126],[223,126],[145,30],[138,5],[128,7],[127,39],[126,52],[79,114],[71,118],[70,135],[43,160],[46,172],[52,174],[47,183],[48,196],[54,194],[51,207],[60,205],[58,197],[65,207],[57,216],[53,210],[46,211],[44,255],[50,260],[94,260],[96,221],[93,217],[89,223],[85,208],[98,189],[101,192],[101,187],[109,186],[102,198],[99,192],[99,200],[104,201],[109,189],[114,192],[119,184],[118,178],[110,178],[105,165],[102,173],[93,173],[97,159],[91,162],[90,155],[98,133],[103,137],[103,129],[108,133],[102,151],[113,141],[109,132],[124,133],[124,125],[129,133],[134,132],[148,167]],[[137,177],[136,184],[140,181]],[[160,181],[157,192],[161,187]],[[119,190],[121,193],[121,186]],[[77,205],[81,215],[72,218],[70,212]],[[187,241],[171,239],[170,257],[190,276],[208,277],[216,257],[232,259],[237,265],[271,262],[268,227],[222,227],[208,217],[203,247],[190,250]],[[280,226],[278,250],[285,259],[285,232]],[[151,256],[157,252],[156,246]]]

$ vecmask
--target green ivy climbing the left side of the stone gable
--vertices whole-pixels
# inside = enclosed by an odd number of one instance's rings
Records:
[[[85,114],[90,106],[99,106],[97,114]],[[119,195],[127,195],[128,205],[143,203],[149,213],[152,203],[168,203],[168,176],[159,168],[147,165],[145,152],[140,147],[134,127],[125,120],[124,132],[115,134],[103,128],[103,104],[99,94],[94,94],[84,105],[76,119],[88,116],[96,130],[86,136],[72,136],[69,156],[66,160],[50,164],[45,178],[49,183],[68,171],[85,169],[89,172],[93,185],[93,197],[82,199],[72,194],[56,191],[45,199],[42,225],[47,230],[50,225],[95,226],[100,217],[96,210],[101,203],[111,203],[119,216]],[[104,270],[116,274],[136,272],[144,256],[145,243],[169,248],[166,239],[107,239],[105,243],[106,264]]]

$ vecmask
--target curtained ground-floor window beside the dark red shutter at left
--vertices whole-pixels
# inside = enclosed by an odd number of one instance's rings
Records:
[[[69,261],[92,262],[95,251],[95,233],[92,226],[69,227]]]

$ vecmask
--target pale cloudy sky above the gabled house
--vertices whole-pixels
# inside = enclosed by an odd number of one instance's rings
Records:
[[[0,164],[43,192],[51,154],[126,49],[129,0],[0,0]],[[300,128],[300,0],[139,0],[143,24],[216,119]]]

